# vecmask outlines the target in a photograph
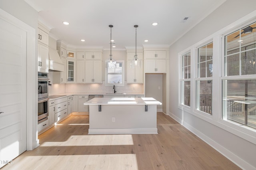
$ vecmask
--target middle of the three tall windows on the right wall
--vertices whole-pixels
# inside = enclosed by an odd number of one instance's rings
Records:
[[[212,49],[213,42],[198,48],[196,109],[212,114]]]

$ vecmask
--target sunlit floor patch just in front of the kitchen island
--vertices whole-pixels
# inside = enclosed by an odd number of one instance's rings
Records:
[[[44,142],[40,146],[133,145],[131,134],[72,135],[64,142]]]

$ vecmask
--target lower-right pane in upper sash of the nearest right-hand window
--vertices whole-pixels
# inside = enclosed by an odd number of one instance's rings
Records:
[[[256,49],[241,53],[242,75],[256,74]]]

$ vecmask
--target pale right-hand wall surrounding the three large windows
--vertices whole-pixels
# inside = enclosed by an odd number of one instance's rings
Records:
[[[170,113],[174,119],[208,142],[234,163],[245,169],[256,168],[256,145],[217,126],[217,122],[204,121],[199,117],[178,109],[178,53],[194,43],[254,11],[255,0],[226,0],[212,14],[170,46]],[[219,66],[220,67],[220,66]],[[216,68],[218,70],[220,68]],[[218,109],[215,110],[216,114]]]

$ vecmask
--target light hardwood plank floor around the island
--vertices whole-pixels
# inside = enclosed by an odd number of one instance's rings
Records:
[[[88,123],[88,115],[72,115],[40,134],[38,148],[2,169],[240,169],[164,113],[157,114],[158,134],[88,135]]]

